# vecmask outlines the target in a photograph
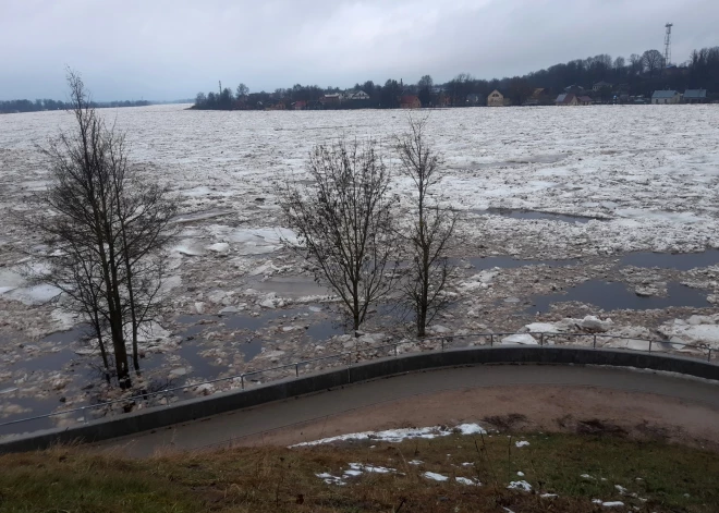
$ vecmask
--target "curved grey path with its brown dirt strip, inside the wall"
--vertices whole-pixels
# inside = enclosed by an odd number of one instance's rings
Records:
[[[231,412],[97,447],[130,456],[292,444],[476,422],[500,430],[610,431],[719,450],[719,386],[619,368],[478,366],[417,372]]]

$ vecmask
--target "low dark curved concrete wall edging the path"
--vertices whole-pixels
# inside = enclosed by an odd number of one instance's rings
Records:
[[[719,380],[717,365],[656,353],[555,346],[460,349],[375,359],[350,368],[301,376],[251,390],[217,393],[209,398],[182,401],[170,406],[119,415],[64,429],[36,431],[0,442],[0,453],[45,449],[53,443],[107,440],[370,379],[440,367],[483,364],[610,365]]]

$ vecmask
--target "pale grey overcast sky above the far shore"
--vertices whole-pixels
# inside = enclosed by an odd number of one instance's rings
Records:
[[[0,0],[0,99],[171,100],[389,77],[501,78],[598,53],[719,45],[718,0]]]

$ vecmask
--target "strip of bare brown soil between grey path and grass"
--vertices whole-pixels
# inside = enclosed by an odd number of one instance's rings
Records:
[[[234,445],[289,445],[358,431],[476,422],[507,432],[584,432],[665,439],[719,451],[719,410],[657,394],[593,387],[468,388],[360,407]]]

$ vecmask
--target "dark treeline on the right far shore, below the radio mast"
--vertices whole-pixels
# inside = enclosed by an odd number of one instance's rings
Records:
[[[605,83],[599,87],[597,84]],[[401,107],[404,98],[416,96],[423,107],[462,107],[484,105],[487,96],[499,89],[513,105],[523,105],[533,99],[538,105],[553,103],[557,95],[566,88],[586,90],[597,101],[616,101],[617,98],[651,96],[657,89],[707,89],[709,99],[719,99],[719,47],[694,50],[690,59],[678,65],[666,65],[658,50],[647,50],[629,58],[599,54],[556,64],[546,70],[524,76],[501,80],[477,80],[462,73],[444,84],[435,84],[431,76],[423,76],[416,84],[388,80],[383,85],[373,81],[357,83],[352,91],[364,91],[365,99],[348,96],[339,87],[296,84],[273,93],[249,93],[240,84],[236,90],[222,87],[216,91],[199,93],[195,109],[337,109],[337,108],[383,108]],[[593,90],[593,89],[597,90]],[[537,89],[544,91],[537,96]],[[340,101],[327,95],[340,94]]]

